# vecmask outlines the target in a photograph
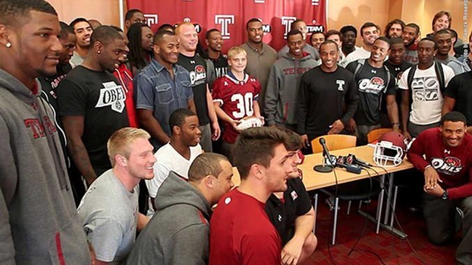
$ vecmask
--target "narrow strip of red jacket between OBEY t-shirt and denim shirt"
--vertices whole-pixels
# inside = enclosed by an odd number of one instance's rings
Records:
[[[113,72],[116,79],[120,81],[121,86],[125,88],[126,93],[126,111],[128,113],[129,127],[138,128],[138,118],[136,116],[136,108],[134,108],[134,86],[133,86],[133,74],[129,71],[128,67],[124,63],[120,64],[118,69]]]

